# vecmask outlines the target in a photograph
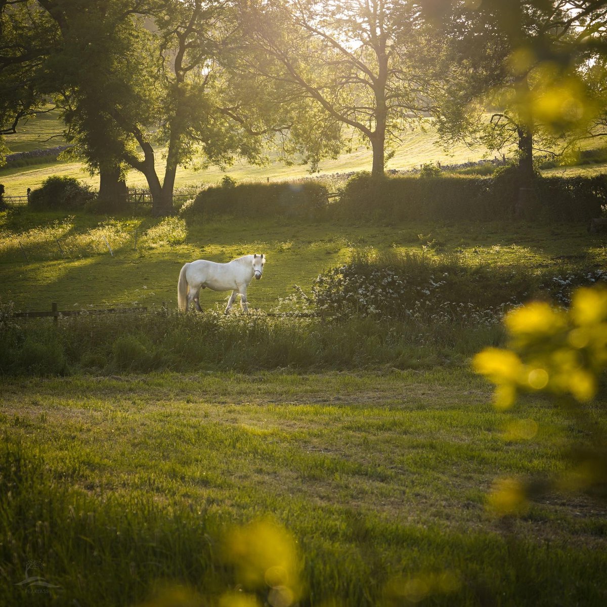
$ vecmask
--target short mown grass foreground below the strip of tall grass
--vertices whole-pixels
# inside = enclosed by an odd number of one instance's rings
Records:
[[[604,604],[597,504],[551,495],[507,524],[485,507],[496,476],[563,467],[568,420],[528,400],[517,415],[537,436],[507,439],[512,418],[467,371],[23,378],[2,392],[5,605],[133,605],[163,580],[214,604],[235,585],[222,529],[267,514],[298,541],[302,605]],[[60,588],[15,586],[30,559]]]

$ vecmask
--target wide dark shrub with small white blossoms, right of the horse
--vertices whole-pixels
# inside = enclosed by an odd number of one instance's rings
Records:
[[[533,296],[568,305],[573,288],[607,282],[601,270],[565,276],[530,274],[516,267],[470,266],[457,257],[435,259],[421,253],[356,253],[345,265],[314,280],[308,304],[337,316],[373,315],[404,319],[422,315],[497,322],[504,308]]]

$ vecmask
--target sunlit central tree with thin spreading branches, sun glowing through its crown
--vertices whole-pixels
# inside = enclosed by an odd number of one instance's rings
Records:
[[[428,114],[441,80],[441,41],[416,2],[242,2],[243,36],[257,78],[305,99],[342,143],[354,134],[373,149],[372,174],[412,122]]]

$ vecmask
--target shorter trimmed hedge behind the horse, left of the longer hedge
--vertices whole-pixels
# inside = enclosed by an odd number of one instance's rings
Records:
[[[237,215],[247,219],[256,217],[299,217],[318,219],[328,206],[327,188],[318,183],[245,183],[235,185],[224,180],[199,192],[186,216]]]

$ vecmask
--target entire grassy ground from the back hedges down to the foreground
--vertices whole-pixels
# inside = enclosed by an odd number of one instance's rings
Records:
[[[498,317],[265,316],[360,251],[565,280],[605,268],[605,235],[523,222],[0,217],[2,311],[9,300],[149,307],[56,327],[0,319],[3,347],[22,357],[0,378],[2,604],[605,603],[604,502],[557,488],[517,517],[491,507],[510,478],[560,475],[563,444],[584,438],[538,396],[494,409],[469,361],[503,340]],[[251,252],[268,256],[253,314],[223,317],[227,294],[208,291],[206,314],[174,311],[182,263]],[[605,402],[587,405],[597,424]],[[234,565],[242,554],[226,537],[249,521],[291,541],[290,582],[252,582]],[[28,575],[54,586],[42,594],[18,586],[32,561]]]

